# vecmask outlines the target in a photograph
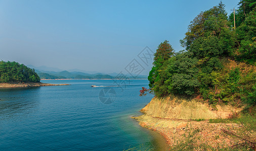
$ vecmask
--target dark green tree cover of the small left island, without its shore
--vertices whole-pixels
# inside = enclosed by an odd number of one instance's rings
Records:
[[[40,82],[34,69],[24,64],[0,61],[0,83],[9,82]]]

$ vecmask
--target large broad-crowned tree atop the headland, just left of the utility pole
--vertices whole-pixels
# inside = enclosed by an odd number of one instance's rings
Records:
[[[210,10],[201,12],[189,25],[182,46],[194,57],[216,57],[234,54],[236,34],[231,30],[222,2]]]

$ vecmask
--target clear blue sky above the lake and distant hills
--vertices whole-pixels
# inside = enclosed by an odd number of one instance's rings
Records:
[[[222,2],[230,14],[239,0]],[[135,61],[148,74],[152,58],[145,63],[138,55],[155,52],[164,40],[183,50],[190,22],[219,3],[0,0],[0,60],[107,73]]]

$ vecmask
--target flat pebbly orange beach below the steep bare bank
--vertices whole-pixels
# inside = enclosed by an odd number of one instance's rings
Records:
[[[218,146],[230,147],[235,140],[225,135],[223,129],[239,129],[237,123],[209,123],[209,120],[193,121],[185,119],[163,119],[142,115],[132,117],[139,122],[139,125],[156,131],[161,134],[169,147],[173,147],[180,142],[188,141],[189,135],[195,133],[191,139],[197,138],[195,143],[206,144],[210,147]]]

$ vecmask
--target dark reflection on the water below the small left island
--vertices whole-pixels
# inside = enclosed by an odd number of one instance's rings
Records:
[[[34,88],[1,88],[0,120],[26,116],[36,110],[39,103],[39,87]]]

